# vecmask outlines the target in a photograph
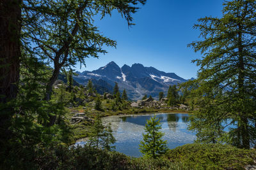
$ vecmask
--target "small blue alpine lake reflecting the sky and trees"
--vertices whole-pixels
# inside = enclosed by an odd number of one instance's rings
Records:
[[[102,118],[102,123],[111,123],[113,136],[116,139],[115,150],[131,157],[141,157],[140,141],[143,140],[144,127],[150,117],[156,115],[161,122],[163,139],[167,141],[168,148],[176,148],[196,139],[195,132],[188,130],[188,117],[186,113],[156,113],[147,115],[118,115]],[[86,141],[79,141],[76,145],[85,145]]]

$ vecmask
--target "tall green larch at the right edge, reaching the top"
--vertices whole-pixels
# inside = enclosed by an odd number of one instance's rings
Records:
[[[198,141],[248,149],[256,139],[256,1],[227,1],[223,6],[221,18],[198,20],[195,28],[202,41],[189,45],[203,55],[194,60],[200,66],[198,78],[186,84],[200,108],[190,129]]]

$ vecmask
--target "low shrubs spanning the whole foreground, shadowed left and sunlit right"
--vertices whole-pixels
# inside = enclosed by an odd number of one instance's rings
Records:
[[[19,153],[19,154],[17,154]],[[19,147],[0,169],[243,169],[254,164],[255,150],[214,144],[189,144],[157,159],[131,158],[88,146]]]

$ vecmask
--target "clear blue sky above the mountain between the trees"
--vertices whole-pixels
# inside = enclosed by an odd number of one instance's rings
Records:
[[[100,32],[117,42],[116,48],[105,48],[108,53],[99,59],[86,59],[86,67],[77,71],[92,71],[108,62],[118,66],[141,63],[160,71],[176,73],[182,78],[196,77],[198,67],[191,60],[201,57],[188,44],[199,39],[200,32],[193,29],[198,18],[220,17],[223,0],[148,0],[134,15],[130,29],[117,12],[95,25]]]

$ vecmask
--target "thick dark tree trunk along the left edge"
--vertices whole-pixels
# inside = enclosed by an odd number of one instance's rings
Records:
[[[13,110],[6,103],[15,99],[20,64],[21,0],[0,0],[0,131],[1,140],[10,138]]]

